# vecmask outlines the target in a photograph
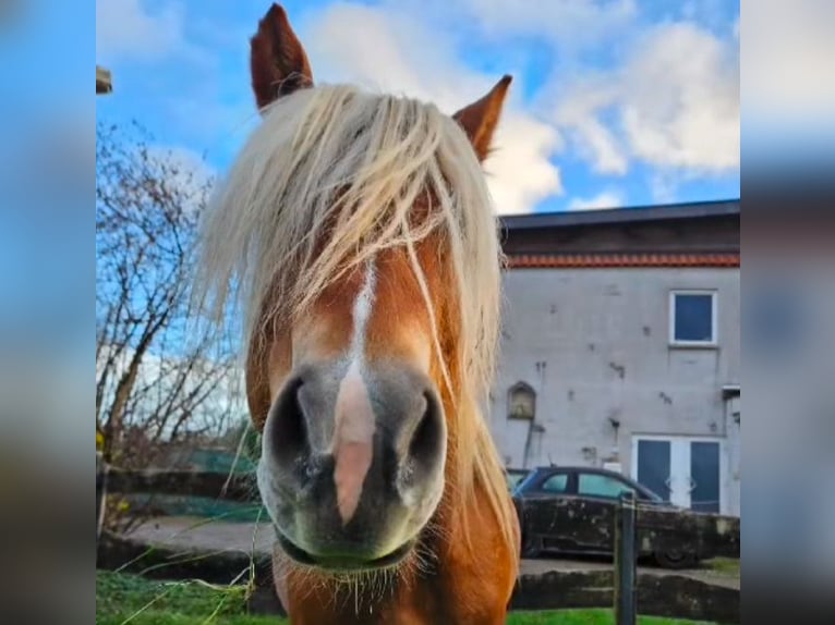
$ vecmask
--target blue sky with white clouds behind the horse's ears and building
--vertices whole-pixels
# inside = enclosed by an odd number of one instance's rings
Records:
[[[499,213],[737,198],[738,0],[290,0],[314,81],[453,113],[503,74],[485,162]],[[97,0],[99,122],[136,120],[185,164],[229,167],[257,124],[249,38],[269,2]]]

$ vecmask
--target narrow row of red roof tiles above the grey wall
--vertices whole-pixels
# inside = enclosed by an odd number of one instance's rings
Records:
[[[739,254],[517,254],[509,269],[594,267],[739,267]]]

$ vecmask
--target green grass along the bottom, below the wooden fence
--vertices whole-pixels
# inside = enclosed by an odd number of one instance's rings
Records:
[[[98,625],[287,625],[275,616],[246,614],[245,587],[197,581],[168,583],[135,575],[96,572]],[[639,617],[641,625],[695,625],[690,621]],[[508,625],[612,625],[608,610],[513,612]]]

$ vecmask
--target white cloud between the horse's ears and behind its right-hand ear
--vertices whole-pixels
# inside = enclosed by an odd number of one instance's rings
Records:
[[[451,37],[429,29],[420,15],[394,7],[336,4],[300,27],[314,78],[354,82],[383,91],[435,102],[451,114],[481,98],[500,75],[468,69]],[[487,184],[500,213],[527,212],[562,193],[559,169],[550,161],[561,146],[557,131],[509,98],[486,161]]]

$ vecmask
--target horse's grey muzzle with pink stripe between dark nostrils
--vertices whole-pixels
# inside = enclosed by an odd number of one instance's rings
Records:
[[[397,564],[440,500],[446,445],[437,391],[421,373],[297,371],[267,418],[258,467],[283,551],[334,569]]]

